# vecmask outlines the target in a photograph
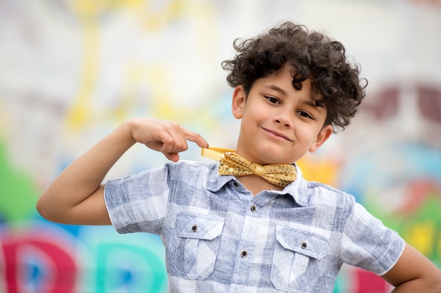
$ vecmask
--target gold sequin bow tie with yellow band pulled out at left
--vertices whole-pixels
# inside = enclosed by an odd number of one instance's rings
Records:
[[[256,174],[280,187],[285,187],[296,178],[294,165],[272,164],[262,166],[240,157],[240,155],[236,154],[235,150],[226,148],[202,148],[201,155],[210,159],[219,160],[218,171],[220,175],[244,176]]]

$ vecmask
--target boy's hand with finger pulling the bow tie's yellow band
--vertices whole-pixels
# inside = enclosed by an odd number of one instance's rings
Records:
[[[173,162],[178,162],[179,152],[188,149],[187,141],[192,141],[200,148],[208,148],[209,143],[199,134],[182,128],[175,122],[135,118],[130,120],[130,135],[137,143],[143,143],[148,148],[162,152]]]

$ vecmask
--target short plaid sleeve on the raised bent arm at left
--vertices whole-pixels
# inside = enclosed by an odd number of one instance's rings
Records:
[[[104,200],[118,233],[161,233],[169,191],[167,177],[164,167],[106,183]]]

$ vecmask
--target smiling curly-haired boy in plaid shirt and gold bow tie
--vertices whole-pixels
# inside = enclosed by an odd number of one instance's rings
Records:
[[[161,235],[170,292],[333,292],[342,263],[382,275],[394,292],[441,292],[433,263],[354,197],[305,181],[295,165],[347,126],[365,96],[342,44],[285,22],[235,49],[223,67],[242,119],[236,152],[178,162],[187,141],[208,143],[173,122],[132,119],[56,178],[40,214]],[[135,143],[173,162],[101,184]]]

